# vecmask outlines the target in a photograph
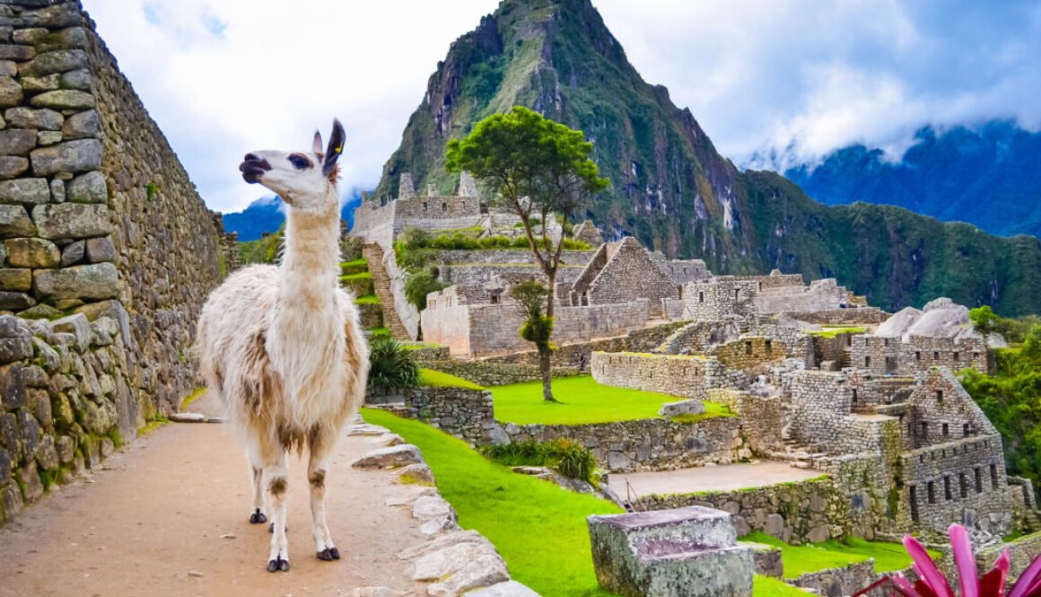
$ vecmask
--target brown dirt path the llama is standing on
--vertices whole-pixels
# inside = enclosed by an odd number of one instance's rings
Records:
[[[340,442],[327,479],[339,562],[314,556],[305,466],[289,469],[288,573],[271,574],[266,525],[250,525],[247,466],[225,425],[170,424],[113,454],[92,478],[60,488],[0,528],[0,596],[349,595],[409,591],[402,549],[424,543],[410,508],[388,499],[420,488],[350,463],[380,447]]]

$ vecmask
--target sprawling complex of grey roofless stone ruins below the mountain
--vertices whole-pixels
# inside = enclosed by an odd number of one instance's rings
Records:
[[[477,197],[420,197],[407,179],[401,186],[397,200],[363,205],[352,231],[384,255],[409,227],[498,234],[516,223]],[[460,189],[476,188],[464,176]],[[942,532],[951,522],[999,537],[1041,522],[1033,487],[1006,474],[1000,437],[955,377],[965,368],[987,371],[986,343],[965,307],[939,299],[889,315],[834,279],[807,284],[776,270],[715,275],[704,262],[667,259],[632,238],[604,242],[591,222],[575,234],[591,249],[563,253],[556,371],[588,370],[606,385],[714,401],[737,416],[693,426],[667,419],[513,425],[494,422],[485,400],[471,419],[454,406],[442,426],[467,420],[463,434],[478,443],[568,437],[616,473],[755,457],[827,474],[827,481],[783,494],[642,502],[664,508],[719,500],[744,532],[786,541]],[[442,250],[433,264],[448,288],[410,316],[412,339],[422,329],[425,342],[440,345],[427,366],[484,384],[534,378],[537,359],[517,334],[522,316],[509,298],[513,284],[542,277],[528,251]],[[436,403],[425,404],[425,413],[436,413]],[[792,495],[823,505],[784,506]],[[764,511],[762,499],[781,509]]]

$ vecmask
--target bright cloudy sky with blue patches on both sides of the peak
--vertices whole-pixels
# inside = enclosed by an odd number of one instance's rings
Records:
[[[333,116],[348,130],[344,186],[374,186],[449,44],[498,4],[82,1],[203,198],[224,212],[258,197],[237,175],[246,151],[309,147]],[[812,161],[850,143],[898,158],[925,124],[1041,127],[1039,2],[593,3],[643,77],[669,88],[738,164]]]

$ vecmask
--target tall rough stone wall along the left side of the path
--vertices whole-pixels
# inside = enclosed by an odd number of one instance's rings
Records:
[[[195,322],[221,251],[213,215],[78,2],[0,4],[0,313],[40,319],[26,333],[5,318],[0,417],[10,474],[33,499],[56,476],[52,451],[73,471],[77,454],[96,462],[197,387]],[[0,479],[12,507],[16,490]]]

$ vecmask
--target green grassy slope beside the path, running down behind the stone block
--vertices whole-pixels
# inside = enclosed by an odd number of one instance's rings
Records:
[[[362,415],[423,450],[438,489],[459,513],[459,524],[487,537],[516,580],[547,596],[611,595],[596,584],[585,519],[620,514],[617,505],[515,474],[417,421],[369,408]],[[758,576],[755,595],[807,597],[803,591]]]

